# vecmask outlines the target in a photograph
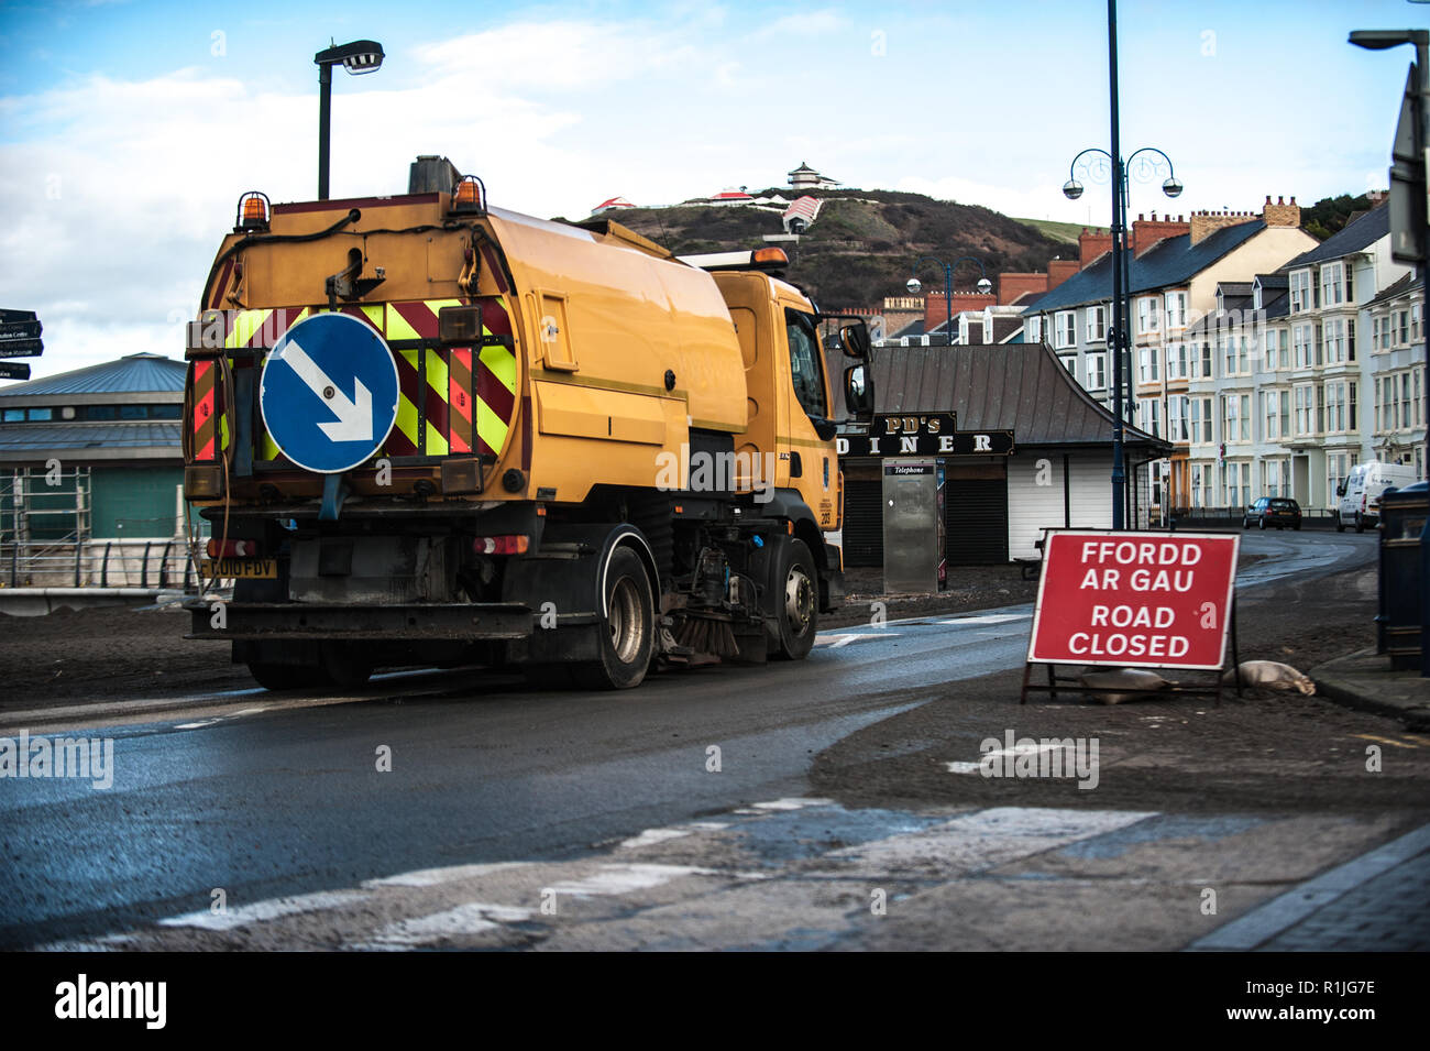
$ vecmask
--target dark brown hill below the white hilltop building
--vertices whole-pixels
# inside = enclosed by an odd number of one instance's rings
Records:
[[[794,196],[788,187],[751,193]],[[818,220],[798,243],[781,246],[789,252],[789,279],[824,309],[872,306],[885,296],[908,295],[904,285],[919,256],[950,263],[974,256],[995,279],[1005,270],[1045,270],[1050,259],[1070,255],[1067,243],[977,204],[897,190],[814,190],[809,196],[825,200]],[[778,209],[692,204],[626,209],[609,217],[681,256],[761,247],[764,235],[784,233]],[[925,263],[918,276],[925,290],[942,292],[941,267]],[[968,292],[978,277],[978,267],[965,263],[954,272],[954,289]]]

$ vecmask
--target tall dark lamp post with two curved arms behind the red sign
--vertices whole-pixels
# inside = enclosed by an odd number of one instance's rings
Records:
[[[1173,172],[1171,159],[1153,146],[1144,146],[1125,160],[1121,154],[1121,130],[1117,112],[1117,0],[1107,0],[1107,63],[1108,86],[1111,93],[1111,152],[1103,149],[1087,149],[1072,157],[1068,166],[1068,180],[1062,183],[1062,194],[1068,200],[1083,196],[1083,183],[1077,180],[1077,164],[1088,154],[1098,154],[1111,166],[1110,182],[1113,184],[1113,325],[1107,333],[1107,345],[1113,352],[1113,529],[1127,528],[1127,463],[1123,452],[1123,396],[1124,369],[1123,353],[1131,343],[1127,339],[1130,322],[1128,295],[1131,293],[1130,266],[1127,260],[1127,172],[1130,162],[1141,154],[1155,153],[1167,162],[1167,179],[1163,182],[1163,193],[1168,197],[1181,194],[1183,184]],[[1155,167],[1150,157],[1143,160],[1147,167]],[[1140,169],[1141,170],[1141,169]],[[1131,363],[1128,369],[1131,372]],[[1131,376],[1127,378],[1128,380]],[[1130,383],[1128,383],[1130,386]],[[1131,395],[1128,393],[1128,403]]]

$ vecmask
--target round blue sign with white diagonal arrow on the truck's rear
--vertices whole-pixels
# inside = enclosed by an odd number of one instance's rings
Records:
[[[352,470],[398,420],[398,363],[370,326],[320,313],[289,329],[263,363],[263,426],[293,463]]]

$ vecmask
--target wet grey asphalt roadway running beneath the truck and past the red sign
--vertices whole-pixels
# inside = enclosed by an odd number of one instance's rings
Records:
[[[1374,559],[1376,538],[1253,533],[1241,588]],[[419,868],[578,857],[798,794],[814,755],[1021,663],[1031,606],[828,632],[808,661],[553,694],[480,673],[392,676],[362,699],[110,728],[114,785],[0,782],[0,945],[90,937],[229,901]],[[245,698],[247,699],[247,698]],[[72,728],[66,735],[82,734]],[[59,735],[59,734],[53,734]],[[711,776],[709,748],[721,776]],[[380,749],[392,771],[378,771]]]

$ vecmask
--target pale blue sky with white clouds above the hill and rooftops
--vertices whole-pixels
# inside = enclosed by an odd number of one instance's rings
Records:
[[[1406,0],[1124,0],[1124,153],[1171,156],[1173,213],[1384,186],[1411,51],[1346,34],[1427,17]],[[40,310],[36,375],[180,353],[239,193],[313,196],[312,56],[356,37],[388,59],[335,74],[335,196],[400,192],[415,154],[445,153],[493,203],[576,217],[613,194],[782,184],[808,160],[849,186],[1108,217],[1107,187],[1058,192],[1108,140],[1098,0],[4,4],[0,306]],[[1134,213],[1168,203],[1133,187]]]

